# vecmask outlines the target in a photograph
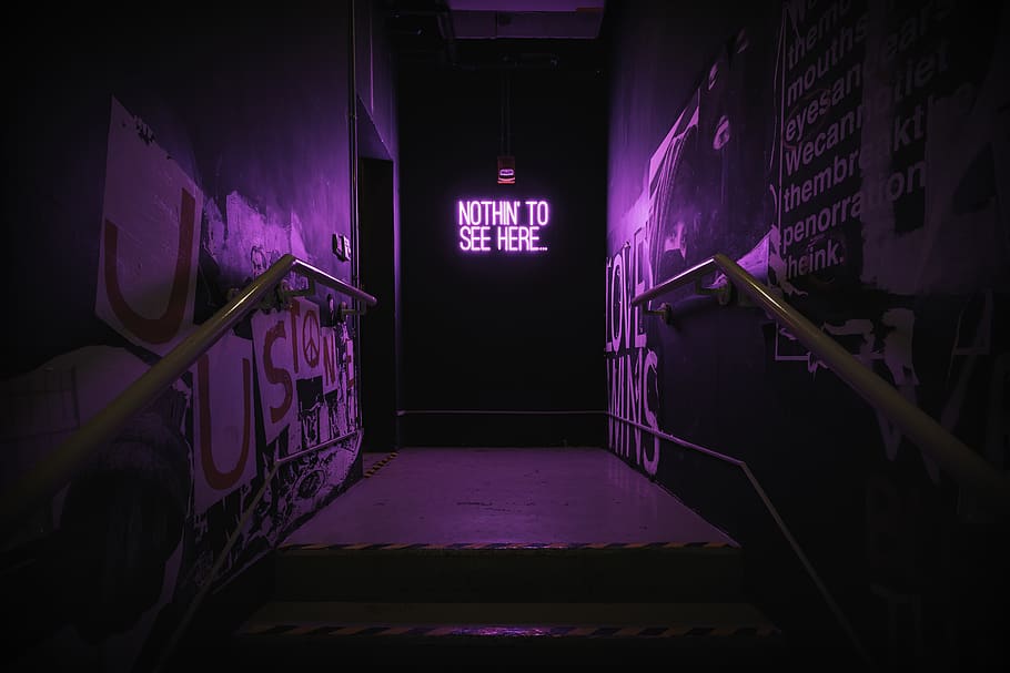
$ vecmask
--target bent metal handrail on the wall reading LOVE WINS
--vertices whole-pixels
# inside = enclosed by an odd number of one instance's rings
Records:
[[[764,308],[875,409],[887,415],[920,449],[927,451],[962,488],[978,493],[1002,514],[1010,513],[1010,479],[949,430],[909,402],[901,394],[842,348],[814,323],[747,273],[739,264],[716,254],[632,298],[633,306],[687,285],[701,276],[721,271],[735,287]]]

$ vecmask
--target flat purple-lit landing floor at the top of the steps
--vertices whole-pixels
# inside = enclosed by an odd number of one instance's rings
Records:
[[[736,542],[599,448],[406,448],[283,544]]]

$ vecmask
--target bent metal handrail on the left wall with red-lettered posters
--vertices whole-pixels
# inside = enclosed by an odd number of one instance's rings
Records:
[[[331,287],[366,306],[374,306],[377,302],[372,295],[293,255],[283,255],[130,384],[109,406],[64,439],[46,460],[37,462],[8,492],[0,494],[0,540],[6,539],[17,528],[21,517],[58,493],[92,451],[114,439],[130,418],[154,401],[235,323],[256,308],[263,296],[277,286],[290,272]]]

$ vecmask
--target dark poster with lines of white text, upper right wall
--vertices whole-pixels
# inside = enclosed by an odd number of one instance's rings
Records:
[[[776,283],[796,296],[1007,287],[1010,242],[997,206],[1008,186],[994,159],[996,143],[1007,143],[991,136],[1010,99],[1008,48],[996,40],[1007,12],[943,2],[786,8]],[[958,31],[960,22],[986,28]]]

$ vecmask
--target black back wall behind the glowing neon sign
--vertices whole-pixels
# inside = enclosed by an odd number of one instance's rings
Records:
[[[527,48],[535,49],[535,48]],[[502,71],[401,75],[406,410],[598,410],[605,78],[508,69],[516,184],[496,184]],[[547,252],[464,253],[456,200],[544,198]],[[592,416],[404,417],[421,443],[602,442]],[[522,430],[518,429],[522,426]]]

